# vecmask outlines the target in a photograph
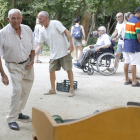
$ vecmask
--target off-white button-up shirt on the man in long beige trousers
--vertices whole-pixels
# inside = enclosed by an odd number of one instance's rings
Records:
[[[30,27],[21,24],[20,28],[21,39],[11,24],[0,30],[0,56],[7,62],[23,62],[29,58],[31,50],[35,49]]]

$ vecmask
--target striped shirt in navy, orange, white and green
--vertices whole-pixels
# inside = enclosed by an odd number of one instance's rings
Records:
[[[133,16],[126,23],[125,37],[124,37],[124,52],[140,52],[140,43],[137,39],[137,33],[140,33],[140,20]]]

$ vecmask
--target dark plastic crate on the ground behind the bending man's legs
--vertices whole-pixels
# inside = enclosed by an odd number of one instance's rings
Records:
[[[77,81],[73,81],[74,90],[77,89],[77,83],[78,83]],[[69,90],[70,90],[70,81],[69,80],[64,80],[61,83],[57,83],[56,90],[62,91],[62,92],[69,92]]]

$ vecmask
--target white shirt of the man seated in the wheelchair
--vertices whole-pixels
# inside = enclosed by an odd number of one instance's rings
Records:
[[[101,36],[99,36],[96,45],[102,46],[102,45],[109,45],[111,44],[111,38],[109,35],[107,35],[106,33],[102,34]]]

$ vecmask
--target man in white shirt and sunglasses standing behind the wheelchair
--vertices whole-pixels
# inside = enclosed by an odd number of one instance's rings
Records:
[[[111,39],[112,41],[118,41],[118,45],[117,45],[117,51],[116,51],[116,57],[118,59],[118,63],[119,63],[119,59],[120,59],[120,56],[122,54],[122,49],[123,49],[123,44],[124,44],[124,41],[123,41],[123,38],[122,38],[122,29],[123,29],[123,14],[122,13],[118,13],[116,15],[116,20],[117,20],[117,25],[116,25],[116,28],[115,28],[115,31],[113,32],[112,36],[111,36]],[[116,68],[116,65],[117,63],[115,62],[114,64],[114,68]],[[110,69],[110,71],[112,71]]]

